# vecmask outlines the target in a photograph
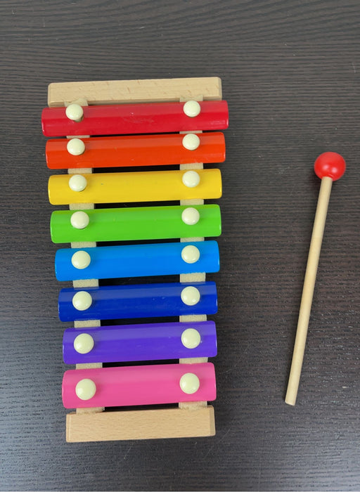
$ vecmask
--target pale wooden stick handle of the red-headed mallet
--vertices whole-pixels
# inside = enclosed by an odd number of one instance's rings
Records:
[[[321,242],[323,240],[323,230],[325,228],[332,184],[333,180],[328,176],[324,176],[323,179],[321,179],[319,200],[316,207],[309,257],[307,259],[307,270],[302,290],[299,320],[297,321],[293,361],[291,363],[288,391],[285,396],[285,403],[288,403],[289,405],[295,405],[297,389],[299,388],[302,361],[304,359],[304,350],[307,341],[307,328],[309,326],[311,303],[314,295],[316,272],[319,264]]]

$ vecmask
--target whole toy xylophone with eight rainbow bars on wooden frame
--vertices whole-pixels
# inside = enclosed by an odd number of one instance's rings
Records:
[[[221,80],[55,83],[48,103],[46,162],[68,169],[49,179],[51,204],[70,208],[51,215],[51,239],[71,246],[55,258],[56,278],[73,284],[58,299],[60,321],[74,322],[63,337],[76,365],[63,377],[75,408],[66,440],[214,435],[217,290],[205,276],[219,271],[219,248],[205,238],[221,218],[204,200],[221,196],[221,174],[203,163],[225,160]],[[179,282],[129,281],[169,275]]]

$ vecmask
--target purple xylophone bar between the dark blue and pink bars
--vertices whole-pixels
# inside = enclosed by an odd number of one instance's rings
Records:
[[[199,332],[198,347],[187,348],[181,342],[181,335],[188,328]],[[94,348],[87,354],[79,354],[74,348],[75,338],[82,333],[91,335],[94,339]],[[157,361],[216,355],[217,334],[214,321],[69,328],[65,330],[63,337],[63,358],[66,364]]]

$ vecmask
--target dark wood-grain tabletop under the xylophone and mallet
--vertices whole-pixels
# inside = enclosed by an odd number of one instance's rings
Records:
[[[2,0],[2,491],[360,490],[359,0]],[[50,82],[218,75],[229,101],[217,435],[65,443],[41,109]],[[297,405],[319,179],[333,186]]]

